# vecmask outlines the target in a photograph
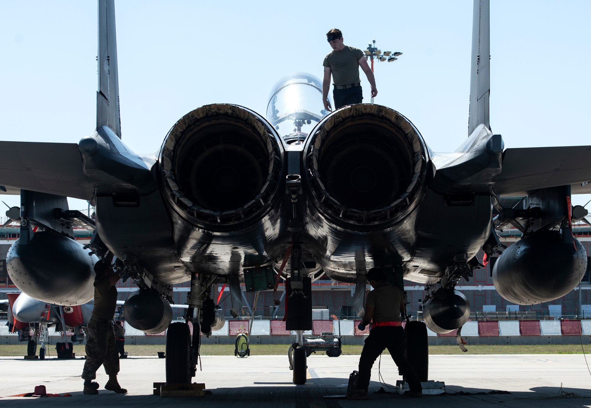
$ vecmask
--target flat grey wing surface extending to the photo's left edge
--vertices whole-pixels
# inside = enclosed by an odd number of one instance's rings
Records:
[[[0,142],[0,186],[0,194],[21,188],[81,200],[94,194],[76,143]]]

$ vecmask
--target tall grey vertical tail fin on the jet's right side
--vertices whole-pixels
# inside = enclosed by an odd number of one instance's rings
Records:
[[[472,69],[468,135],[481,123],[491,129],[488,100],[491,94],[491,31],[489,0],[474,0]]]

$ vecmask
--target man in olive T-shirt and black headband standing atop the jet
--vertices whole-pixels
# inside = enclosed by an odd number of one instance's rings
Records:
[[[363,92],[361,89],[361,79],[359,79],[359,67],[368,77],[371,85],[371,96],[378,94],[375,87],[374,73],[369,68],[365,60],[365,54],[359,48],[349,47],[343,44],[343,33],[338,28],[333,28],[326,33],[326,40],[329,42],[332,51],[324,57],[324,80],[322,81],[322,102],[324,109],[332,110],[328,100],[330,89],[330,76],[335,79],[333,89],[333,99],[335,100],[335,109],[353,103],[361,103]]]

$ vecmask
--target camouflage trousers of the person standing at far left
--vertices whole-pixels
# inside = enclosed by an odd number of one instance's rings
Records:
[[[119,353],[111,321],[93,316],[88,322],[86,335],[86,361],[82,378],[94,380],[100,365],[105,367],[108,376],[119,373]]]

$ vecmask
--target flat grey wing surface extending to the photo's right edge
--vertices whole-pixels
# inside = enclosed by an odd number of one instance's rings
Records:
[[[591,146],[506,149],[494,190],[501,195],[527,195],[570,184],[572,194],[588,194],[590,181]]]

